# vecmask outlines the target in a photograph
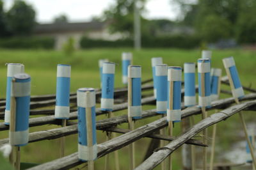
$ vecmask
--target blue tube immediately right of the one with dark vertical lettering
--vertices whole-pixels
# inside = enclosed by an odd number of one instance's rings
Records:
[[[141,118],[141,66],[130,65],[128,67],[128,117]],[[131,96],[130,96],[131,95]],[[131,100],[129,100],[131,98]]]

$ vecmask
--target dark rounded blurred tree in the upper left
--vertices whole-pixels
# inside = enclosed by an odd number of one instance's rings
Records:
[[[24,1],[15,1],[7,12],[7,21],[13,35],[30,35],[35,26],[35,10]]]

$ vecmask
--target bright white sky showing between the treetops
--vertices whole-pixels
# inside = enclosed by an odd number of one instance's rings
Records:
[[[8,10],[15,0],[3,0],[4,9]],[[54,17],[61,14],[68,16],[72,22],[88,21],[93,16],[99,16],[115,3],[115,0],[25,0],[36,10],[37,22],[51,22]],[[170,0],[148,0],[143,17],[147,19],[177,18],[175,8]]]

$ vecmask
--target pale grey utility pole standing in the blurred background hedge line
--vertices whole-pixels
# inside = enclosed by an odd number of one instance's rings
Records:
[[[141,49],[140,10],[138,9],[138,0],[134,0],[134,49]]]

